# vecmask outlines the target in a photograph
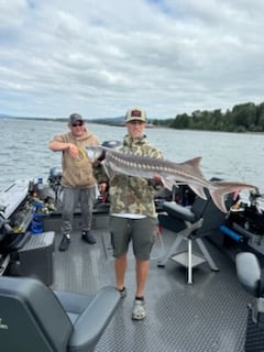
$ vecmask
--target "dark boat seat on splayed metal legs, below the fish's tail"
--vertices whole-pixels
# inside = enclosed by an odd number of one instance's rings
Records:
[[[196,197],[189,207],[184,207],[175,201],[164,201],[165,213],[158,215],[161,227],[173,231],[176,237],[167,252],[160,257],[157,265],[164,267],[169,258],[187,267],[187,282],[193,284],[193,267],[207,262],[212,271],[219,271],[213,262],[204,237],[218,229],[224,221],[222,213],[211,200],[206,190],[207,199]],[[187,249],[179,251],[183,241],[187,241]],[[194,253],[193,244],[197,244],[200,253]]]

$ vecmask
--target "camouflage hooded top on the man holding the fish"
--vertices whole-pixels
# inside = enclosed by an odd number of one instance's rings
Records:
[[[124,136],[122,153],[162,158],[162,153],[150,144],[146,136],[132,139]],[[110,182],[110,213],[136,213],[151,218],[156,217],[154,194],[158,186],[153,179],[117,175]]]

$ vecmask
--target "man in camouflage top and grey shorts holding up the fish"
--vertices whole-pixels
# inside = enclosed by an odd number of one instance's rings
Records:
[[[131,109],[125,116],[128,134],[123,139],[120,152],[162,157],[162,153],[152,146],[144,129],[146,114],[141,108]],[[132,319],[145,318],[144,287],[147,279],[150,254],[157,234],[157,216],[154,194],[161,187],[161,177],[154,179],[117,175],[110,182],[110,231],[113,246],[117,289],[125,297],[124,276],[127,253],[130,241],[135,256],[136,290],[132,309]]]

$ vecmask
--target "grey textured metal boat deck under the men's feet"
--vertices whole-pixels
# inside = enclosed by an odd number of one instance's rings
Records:
[[[107,219],[96,220],[97,244],[82,242],[77,229],[67,252],[58,251],[59,219],[55,221],[46,223],[47,230],[56,230],[52,288],[92,295],[105,285],[114,285]],[[189,285],[184,266],[170,260],[165,267],[157,266],[158,257],[174,239],[172,231],[163,230],[162,242],[158,238],[154,245],[145,288],[147,317],[143,321],[131,319],[135,277],[133,254],[129,252],[128,295],[99,341],[97,352],[244,351],[246,307],[252,298],[237,278],[234,262],[207,241],[220,271],[212,272],[207,263],[200,264],[194,268],[194,284]]]

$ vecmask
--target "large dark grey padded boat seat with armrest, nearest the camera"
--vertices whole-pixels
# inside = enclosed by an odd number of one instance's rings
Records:
[[[95,296],[54,292],[30,277],[0,277],[1,351],[91,352],[118,307],[106,286]]]

